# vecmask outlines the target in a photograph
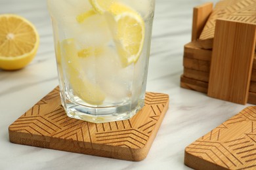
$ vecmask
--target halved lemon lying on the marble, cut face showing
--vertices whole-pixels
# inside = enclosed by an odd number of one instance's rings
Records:
[[[0,69],[22,69],[37,52],[37,30],[31,22],[14,14],[0,15],[0,25]]]

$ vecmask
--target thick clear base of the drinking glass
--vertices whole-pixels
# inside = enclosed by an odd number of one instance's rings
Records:
[[[142,107],[144,99],[137,105],[126,103],[115,107],[86,107],[70,101],[65,102],[64,109],[70,118],[84,120],[92,123],[115,122],[132,118]]]

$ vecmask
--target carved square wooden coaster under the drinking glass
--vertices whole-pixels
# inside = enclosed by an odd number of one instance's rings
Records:
[[[66,116],[58,88],[9,126],[12,143],[121,160],[146,158],[169,107],[169,95],[146,93],[130,120],[93,124]]]

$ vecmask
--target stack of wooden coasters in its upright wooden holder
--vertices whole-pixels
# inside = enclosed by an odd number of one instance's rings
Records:
[[[255,39],[256,0],[223,0],[215,9],[213,3],[195,7],[181,87],[256,104]]]

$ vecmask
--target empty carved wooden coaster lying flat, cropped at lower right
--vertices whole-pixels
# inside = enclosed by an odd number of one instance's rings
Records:
[[[256,169],[256,107],[247,107],[185,149],[193,169]]]

